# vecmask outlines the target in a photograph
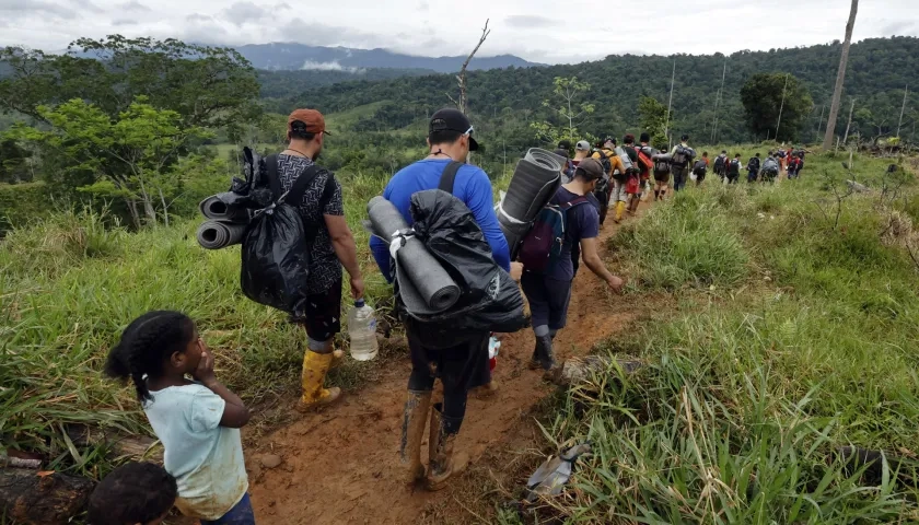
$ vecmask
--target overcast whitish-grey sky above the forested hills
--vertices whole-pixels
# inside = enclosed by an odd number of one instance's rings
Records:
[[[81,36],[119,33],[465,55],[491,19],[481,56],[510,52],[555,63],[841,40],[849,5],[849,0],[0,0],[0,45],[59,50]],[[919,0],[860,2],[854,39],[891,35],[919,36]]]

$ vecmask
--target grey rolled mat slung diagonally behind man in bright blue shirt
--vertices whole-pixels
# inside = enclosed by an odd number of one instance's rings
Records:
[[[408,229],[399,210],[383,197],[370,199],[367,213],[374,232],[386,242],[396,232]],[[462,293],[424,243],[415,237],[408,237],[396,252],[396,280],[405,307],[417,315],[444,312],[456,304]]]

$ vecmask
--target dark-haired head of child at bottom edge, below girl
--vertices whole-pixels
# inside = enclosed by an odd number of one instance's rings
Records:
[[[159,525],[178,489],[175,478],[152,463],[128,463],[112,470],[90,497],[90,525]]]

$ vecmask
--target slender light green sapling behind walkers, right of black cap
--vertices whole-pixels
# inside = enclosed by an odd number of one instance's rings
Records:
[[[561,139],[572,142],[580,140],[578,128],[594,113],[594,105],[583,101],[584,93],[590,90],[591,84],[579,81],[578,77],[556,77],[552,81],[552,98],[543,101],[543,106],[551,109],[561,125],[533,122],[536,138],[554,143]]]

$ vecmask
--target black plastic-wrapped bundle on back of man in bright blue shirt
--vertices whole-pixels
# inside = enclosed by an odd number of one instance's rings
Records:
[[[439,189],[418,191],[411,196],[410,212],[416,237],[462,290],[447,311],[412,316],[432,339],[463,331],[512,332],[527,326],[520,287],[495,262],[491,247],[462,200]],[[437,341],[428,342],[434,346]]]

